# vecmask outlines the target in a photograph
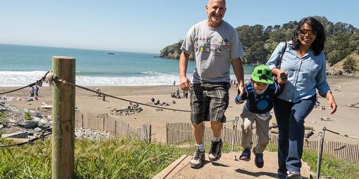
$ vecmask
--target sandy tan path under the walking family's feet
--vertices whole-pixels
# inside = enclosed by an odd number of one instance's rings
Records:
[[[170,165],[161,173],[158,173],[153,179],[170,178],[170,179],[218,179],[218,178],[277,178],[277,153],[264,152],[265,166],[257,168],[254,165],[254,156],[251,161],[241,161],[238,159],[239,154],[232,152],[222,154],[219,161],[210,163],[206,160],[206,164],[202,168],[194,169],[189,166],[190,156],[185,157],[182,161],[175,165]],[[206,156],[208,159],[208,156]],[[310,167],[303,163],[301,168],[303,178],[310,178]]]

